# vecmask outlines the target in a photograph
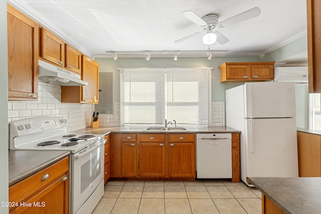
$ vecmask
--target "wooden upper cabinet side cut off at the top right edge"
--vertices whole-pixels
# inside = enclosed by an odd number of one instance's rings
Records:
[[[321,93],[321,1],[306,0],[309,93]]]

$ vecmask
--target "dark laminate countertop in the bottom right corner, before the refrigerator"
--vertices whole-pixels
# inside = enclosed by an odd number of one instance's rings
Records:
[[[321,177],[247,177],[283,212],[321,212]]]

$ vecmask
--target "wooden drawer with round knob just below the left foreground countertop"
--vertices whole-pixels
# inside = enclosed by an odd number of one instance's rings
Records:
[[[26,201],[69,170],[69,157],[44,168],[9,187],[9,201]],[[49,175],[49,177],[48,177]],[[47,176],[47,178],[46,178]],[[12,207],[14,208],[14,207]]]

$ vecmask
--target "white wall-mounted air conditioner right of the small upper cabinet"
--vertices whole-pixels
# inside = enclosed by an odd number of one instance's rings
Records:
[[[295,82],[307,84],[307,66],[302,67],[275,67],[275,82]]]

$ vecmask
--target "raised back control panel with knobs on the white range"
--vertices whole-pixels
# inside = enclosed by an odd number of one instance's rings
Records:
[[[11,122],[10,133],[17,137],[66,128],[67,124],[67,119],[64,117],[32,117]]]

